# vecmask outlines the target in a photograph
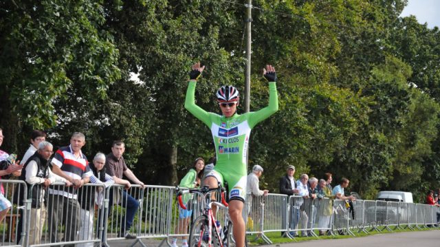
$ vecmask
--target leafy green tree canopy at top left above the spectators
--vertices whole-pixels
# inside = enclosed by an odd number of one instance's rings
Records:
[[[23,125],[57,124],[54,103],[105,98],[120,78],[118,50],[100,30],[104,13],[95,1],[1,1],[0,12],[0,125],[8,149],[17,150]]]

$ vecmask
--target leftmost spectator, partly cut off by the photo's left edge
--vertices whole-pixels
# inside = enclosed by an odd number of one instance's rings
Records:
[[[0,129],[0,147],[3,143],[3,130]],[[21,169],[23,169],[23,165],[19,165],[19,161],[15,161],[14,155],[9,155],[5,151],[0,149],[0,180],[4,178],[9,178],[10,175],[20,175]],[[3,222],[3,219],[6,217],[9,209],[11,208],[11,202],[6,199],[5,191],[3,189],[3,184],[0,184],[0,222]]]

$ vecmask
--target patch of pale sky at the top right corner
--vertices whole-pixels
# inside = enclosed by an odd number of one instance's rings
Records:
[[[419,23],[428,23],[428,28],[440,28],[440,0],[408,0],[408,6],[400,16],[408,17],[410,14],[414,15]]]

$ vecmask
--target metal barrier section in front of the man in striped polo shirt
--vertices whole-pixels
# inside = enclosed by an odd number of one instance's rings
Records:
[[[32,191],[36,190],[36,198]],[[100,243],[102,226],[103,184],[85,184],[79,189],[54,183],[30,186],[28,194],[28,246],[92,247]],[[40,202],[34,205],[32,202]]]

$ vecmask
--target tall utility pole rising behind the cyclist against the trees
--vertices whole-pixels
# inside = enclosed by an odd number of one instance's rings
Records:
[[[246,72],[245,72],[245,112],[250,111],[250,55],[251,55],[251,32],[252,23],[252,0],[247,0],[246,7]]]

